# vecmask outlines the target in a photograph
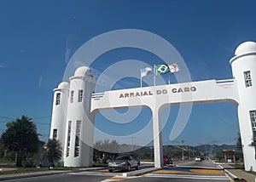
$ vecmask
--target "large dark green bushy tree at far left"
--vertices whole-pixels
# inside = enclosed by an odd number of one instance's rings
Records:
[[[38,133],[32,118],[21,116],[6,124],[7,130],[1,136],[3,147],[15,152],[16,167],[20,167],[25,153],[38,151]]]

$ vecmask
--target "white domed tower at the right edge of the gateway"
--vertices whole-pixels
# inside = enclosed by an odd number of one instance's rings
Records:
[[[256,154],[252,145],[256,136],[256,43],[241,43],[230,60],[239,94],[238,117],[245,170],[256,170]]]

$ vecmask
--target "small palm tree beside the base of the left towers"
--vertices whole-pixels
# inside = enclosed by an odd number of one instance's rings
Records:
[[[49,167],[61,159],[62,147],[59,140],[49,139],[44,145],[44,158],[49,162]]]

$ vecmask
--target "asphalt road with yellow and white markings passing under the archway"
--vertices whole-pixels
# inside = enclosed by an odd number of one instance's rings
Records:
[[[101,170],[101,171],[80,171],[80,172],[72,172],[72,173],[61,173],[55,175],[46,175],[46,176],[38,176],[32,178],[23,178],[23,179],[11,179],[8,181],[26,181],[26,182],[66,182],[66,181],[73,181],[73,182],[107,182],[110,179],[113,180],[124,180],[127,182],[132,181],[140,181],[140,182],[157,182],[157,181],[206,181],[206,182],[230,182],[230,178],[221,170],[218,170],[218,167],[210,162],[210,161],[203,161],[203,162],[174,162],[179,168],[173,167],[166,167],[162,170],[155,171],[154,173],[147,173],[140,177],[129,177],[125,178],[120,175],[119,171],[114,173],[108,173],[108,170]]]

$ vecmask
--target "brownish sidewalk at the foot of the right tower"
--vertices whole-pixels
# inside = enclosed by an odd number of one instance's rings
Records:
[[[233,178],[236,181],[236,178],[238,179],[246,179],[247,182],[255,182],[255,178],[256,176],[253,175],[252,173],[247,173],[241,169],[236,169],[232,166],[230,166],[229,164],[223,163],[223,164],[218,164],[220,167],[222,167],[225,171],[227,171],[228,173],[231,173],[235,176],[233,176]],[[239,180],[238,180],[239,181]]]

